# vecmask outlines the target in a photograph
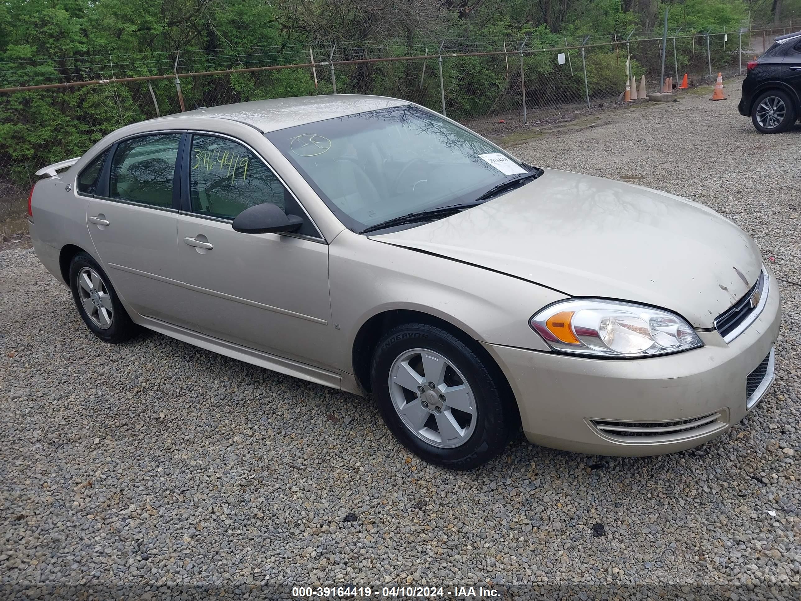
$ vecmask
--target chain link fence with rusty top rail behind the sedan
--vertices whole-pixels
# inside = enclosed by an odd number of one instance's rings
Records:
[[[678,86],[685,73],[690,85],[714,81],[718,71],[743,73],[749,59],[789,31],[675,32],[666,40],[665,76]],[[128,123],[199,107],[292,95],[388,95],[501,139],[618,103],[630,75],[638,86],[645,76],[649,93],[662,87],[661,37],[553,39],[353,42],[0,66],[0,211],[13,213],[7,207],[26,199],[38,168],[81,155]],[[4,219],[0,212],[0,227]]]

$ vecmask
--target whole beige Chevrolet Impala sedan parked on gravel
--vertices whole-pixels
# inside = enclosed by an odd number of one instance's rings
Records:
[[[521,426],[588,454],[684,450],[773,381],[779,290],[739,227],[407,101],[201,108],[38,175],[36,254],[95,336],[144,327],[369,393],[440,466]]]

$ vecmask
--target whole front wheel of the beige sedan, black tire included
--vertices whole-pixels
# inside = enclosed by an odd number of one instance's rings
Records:
[[[388,429],[437,466],[472,470],[505,449],[517,408],[489,357],[428,324],[391,329],[376,345],[370,382]]]

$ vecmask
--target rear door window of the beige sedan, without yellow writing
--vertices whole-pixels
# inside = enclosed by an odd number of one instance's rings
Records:
[[[109,196],[172,208],[180,134],[145,135],[119,143],[111,161]]]

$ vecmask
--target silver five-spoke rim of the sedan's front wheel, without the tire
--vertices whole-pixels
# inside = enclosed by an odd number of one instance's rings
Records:
[[[476,428],[473,390],[445,356],[429,349],[401,353],[389,369],[389,396],[417,438],[443,449],[465,444]]]

